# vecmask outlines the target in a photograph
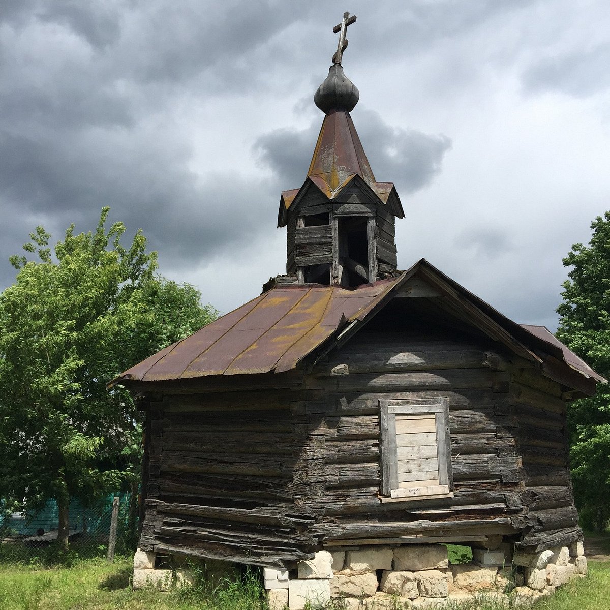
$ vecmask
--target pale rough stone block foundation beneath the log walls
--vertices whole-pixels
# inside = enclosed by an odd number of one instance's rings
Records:
[[[508,602],[531,601],[547,595],[572,578],[587,573],[582,542],[540,553],[515,552],[512,546],[473,548],[473,561],[450,565],[447,548],[439,544],[370,546],[318,551],[295,570],[262,570],[270,610],[303,610],[307,601],[320,606],[343,600],[346,610],[371,608],[442,608],[448,600],[494,595]],[[178,558],[175,558],[178,560]],[[511,561],[512,560],[512,561]],[[154,553],[137,550],[134,589],[186,586],[192,575],[184,562],[179,569],[159,565]],[[207,565],[207,564],[206,564]],[[236,578],[233,564],[210,562],[206,576],[213,582]],[[162,568],[162,569],[161,569]]]

